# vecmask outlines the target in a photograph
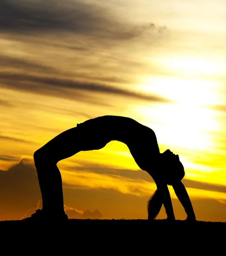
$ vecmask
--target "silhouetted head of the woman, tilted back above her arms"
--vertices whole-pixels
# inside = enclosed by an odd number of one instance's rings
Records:
[[[161,175],[168,185],[172,185],[184,178],[184,166],[179,156],[167,149],[161,154]]]

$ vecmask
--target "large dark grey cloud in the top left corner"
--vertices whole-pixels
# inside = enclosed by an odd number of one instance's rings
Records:
[[[140,33],[106,8],[82,1],[1,0],[0,20],[0,31],[18,34],[74,32],[119,40]]]

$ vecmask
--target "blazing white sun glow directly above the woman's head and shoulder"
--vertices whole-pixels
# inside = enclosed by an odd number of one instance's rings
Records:
[[[136,108],[153,125],[158,142],[179,148],[203,150],[213,146],[210,133],[218,131],[215,113],[206,105],[217,104],[218,95],[211,81],[176,78],[147,78],[142,91],[156,93],[172,104]]]

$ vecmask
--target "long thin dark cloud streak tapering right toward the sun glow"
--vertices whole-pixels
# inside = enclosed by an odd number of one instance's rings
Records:
[[[33,93],[59,96],[69,99],[92,102],[93,97],[89,93],[108,93],[112,95],[130,97],[134,99],[146,100],[150,102],[169,103],[168,99],[161,96],[141,94],[119,87],[107,86],[97,83],[82,83],[70,79],[57,79],[55,77],[34,76],[20,73],[0,73],[2,86],[10,87],[14,90],[23,90]],[[74,93],[73,93],[74,92]]]

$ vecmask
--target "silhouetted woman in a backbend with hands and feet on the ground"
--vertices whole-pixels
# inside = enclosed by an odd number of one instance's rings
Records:
[[[160,153],[152,129],[123,116],[99,116],[57,135],[34,153],[42,210],[28,219],[67,219],[64,211],[62,178],[57,163],[79,151],[98,150],[112,140],[125,143],[140,169],[153,177],[157,190],[148,202],[148,219],[155,219],[162,204],[168,220],[175,220],[168,185],[183,205],[187,220],[195,220],[195,213],[186,189],[181,182],[184,167],[178,155],[169,149]]]

